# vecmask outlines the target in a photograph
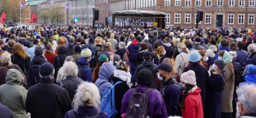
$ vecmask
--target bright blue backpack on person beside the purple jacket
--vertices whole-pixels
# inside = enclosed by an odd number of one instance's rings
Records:
[[[122,82],[117,81],[114,85],[107,88],[102,96],[100,111],[106,113],[109,118],[114,118],[118,113],[118,110],[115,109],[115,85],[119,83]]]

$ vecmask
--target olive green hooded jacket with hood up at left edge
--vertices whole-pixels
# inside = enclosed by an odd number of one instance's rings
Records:
[[[24,78],[16,69],[9,69],[6,84],[0,86],[0,102],[13,112],[13,118],[27,118],[25,101],[27,90],[22,86]]]

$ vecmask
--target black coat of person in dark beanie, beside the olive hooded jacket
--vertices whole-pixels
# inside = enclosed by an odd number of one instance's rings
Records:
[[[68,92],[52,79],[44,78],[28,89],[26,111],[31,118],[61,118],[68,110],[71,110]]]

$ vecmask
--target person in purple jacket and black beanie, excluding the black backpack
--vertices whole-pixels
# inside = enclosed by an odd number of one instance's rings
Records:
[[[134,92],[144,93],[147,92],[147,108],[148,114],[151,118],[167,118],[167,110],[164,104],[164,100],[159,91],[156,89],[149,89],[149,86],[153,83],[153,74],[149,69],[142,69],[138,74],[138,85],[134,89],[128,90],[122,99],[121,115],[128,113],[129,99]],[[136,90],[136,91],[135,91]],[[134,92],[133,92],[134,91]],[[149,91],[149,92],[148,92]],[[135,107],[135,106],[134,106]],[[133,111],[134,112],[134,111]]]

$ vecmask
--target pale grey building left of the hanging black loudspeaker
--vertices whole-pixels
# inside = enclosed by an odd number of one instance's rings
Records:
[[[69,0],[70,10],[68,10],[68,22],[74,22],[74,17],[78,17],[77,25],[92,26],[94,0]]]

